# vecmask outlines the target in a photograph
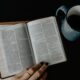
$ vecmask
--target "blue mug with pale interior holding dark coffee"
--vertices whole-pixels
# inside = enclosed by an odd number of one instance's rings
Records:
[[[62,17],[59,22],[61,22],[63,36],[69,41],[78,40],[80,38],[80,5],[73,6],[70,9],[61,6],[56,11],[56,16]]]

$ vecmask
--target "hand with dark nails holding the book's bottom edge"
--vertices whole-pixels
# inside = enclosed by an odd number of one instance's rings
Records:
[[[14,80],[46,80],[48,63],[40,63],[14,76]]]

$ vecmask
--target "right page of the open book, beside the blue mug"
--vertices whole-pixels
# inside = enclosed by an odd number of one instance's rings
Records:
[[[66,61],[55,17],[29,22],[28,30],[35,63],[45,61],[52,65]]]

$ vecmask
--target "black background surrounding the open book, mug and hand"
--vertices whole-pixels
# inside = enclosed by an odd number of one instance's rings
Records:
[[[0,22],[34,20],[54,16],[60,5],[72,7],[80,4],[79,0],[0,0]],[[67,41],[61,34],[67,62],[48,68],[48,80],[79,79],[80,73],[80,40]]]

